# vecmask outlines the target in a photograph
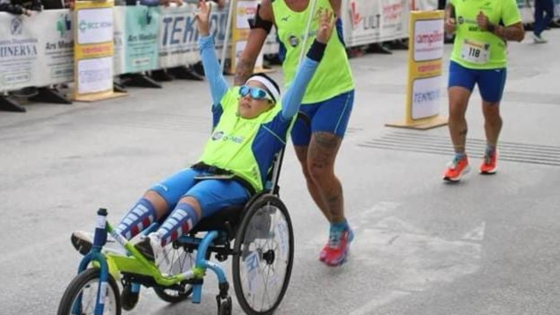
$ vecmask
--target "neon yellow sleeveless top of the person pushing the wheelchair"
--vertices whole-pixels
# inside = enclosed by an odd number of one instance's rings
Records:
[[[315,16],[311,21],[309,37],[305,45],[301,43],[304,40],[312,1],[309,1],[309,6],[302,12],[292,11],[284,0],[272,2],[278,38],[286,47],[286,59],[282,64],[286,87],[290,86],[296,76],[297,67],[300,64],[301,49],[305,49],[305,53],[307,53],[315,40],[320,13],[325,9],[332,10],[329,0],[317,1]],[[307,86],[302,104],[318,103],[332,99],[334,96],[352,89],[354,89],[354,81],[346,49],[338,38],[337,30],[333,29],[333,34],[326,45],[325,55]]]

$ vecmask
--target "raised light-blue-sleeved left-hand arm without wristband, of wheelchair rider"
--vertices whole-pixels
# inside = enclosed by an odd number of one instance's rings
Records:
[[[223,95],[226,94],[228,85],[226,78],[223,77],[223,73],[220,71],[220,63],[218,63],[214,47],[214,38],[210,35],[209,31],[208,20],[211,7],[204,0],[199,0],[198,7],[199,12],[196,15],[198,32],[200,34],[198,49],[202,59],[202,66],[204,67],[204,75],[210,85],[212,106],[217,106],[220,104]]]

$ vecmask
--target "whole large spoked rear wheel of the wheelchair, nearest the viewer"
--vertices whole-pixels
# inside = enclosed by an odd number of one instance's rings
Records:
[[[232,266],[235,294],[245,313],[272,314],[292,274],[290,214],[278,197],[267,194],[251,203],[242,216]]]

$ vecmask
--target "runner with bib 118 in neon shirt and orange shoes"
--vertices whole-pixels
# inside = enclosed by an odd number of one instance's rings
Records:
[[[500,100],[506,83],[507,40],[521,41],[525,30],[515,0],[450,0],[445,30],[455,33],[449,64],[449,132],[455,157],[444,179],[452,182],[469,172],[465,152],[465,112],[474,85],[482,97],[486,150],[481,174],[497,170],[497,142],[502,128]]]

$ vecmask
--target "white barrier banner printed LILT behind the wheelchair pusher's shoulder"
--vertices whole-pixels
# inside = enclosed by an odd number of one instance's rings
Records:
[[[347,47],[407,37],[408,0],[350,0],[344,11]]]

